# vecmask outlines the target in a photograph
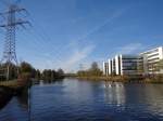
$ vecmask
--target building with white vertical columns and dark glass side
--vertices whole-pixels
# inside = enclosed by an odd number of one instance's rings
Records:
[[[111,75],[141,75],[142,57],[137,55],[116,55],[109,59],[108,68],[109,76]]]

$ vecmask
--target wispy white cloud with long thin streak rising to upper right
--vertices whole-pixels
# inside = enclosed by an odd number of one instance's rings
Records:
[[[88,65],[90,65],[92,62],[89,60],[88,55],[95,50],[95,45],[89,44],[86,46],[82,46],[79,48],[78,45],[82,43],[83,40],[85,40],[87,37],[89,37],[90,35],[97,32],[99,29],[101,29],[102,27],[104,27],[105,25],[108,25],[109,23],[112,23],[115,18],[118,18],[125,10],[121,10],[115,12],[112,16],[108,17],[103,23],[98,24],[97,26],[95,26],[95,28],[88,30],[87,33],[85,33],[84,36],[80,36],[79,38],[75,39],[74,41],[70,42],[68,45],[66,45],[66,50],[70,49],[70,51],[73,50],[74,52],[72,53],[72,55],[68,58],[65,58],[64,62],[61,62],[62,64],[59,64],[58,66],[62,67],[65,71],[70,71],[70,70],[77,70],[77,66],[79,65],[79,63],[87,58],[87,67]],[[96,62],[99,63],[99,59],[96,58]],[[101,62],[101,60],[100,60]]]

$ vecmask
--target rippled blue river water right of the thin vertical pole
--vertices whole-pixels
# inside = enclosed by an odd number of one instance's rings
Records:
[[[163,121],[163,84],[41,83],[30,89],[30,120]]]

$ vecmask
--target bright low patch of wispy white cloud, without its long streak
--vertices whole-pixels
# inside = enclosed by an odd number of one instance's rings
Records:
[[[82,45],[77,41],[72,41],[67,45],[68,50],[62,53],[62,57],[60,60],[54,57],[51,59],[46,59],[41,69],[58,69],[62,68],[64,71],[76,71],[78,69],[78,65],[84,60],[89,58],[89,55],[93,52],[96,45],[87,44]],[[45,54],[45,56],[49,57],[49,54]],[[51,57],[51,56],[50,56]]]

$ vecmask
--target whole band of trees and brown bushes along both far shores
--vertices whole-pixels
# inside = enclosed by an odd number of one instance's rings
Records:
[[[12,66],[12,73],[10,79],[14,80],[17,77],[15,73],[16,67]],[[124,82],[124,83],[163,83],[163,73],[160,75],[149,75],[149,76],[103,76],[103,72],[100,70],[98,64],[93,62],[89,69],[79,70],[76,73],[64,73],[64,71],[60,68],[58,70],[54,69],[45,69],[40,71],[39,69],[35,69],[30,64],[26,62],[22,62],[20,67],[20,76],[22,80],[43,80],[45,82],[52,82],[59,79],[64,78],[76,78],[80,80],[93,80],[93,81],[108,81],[108,82]],[[1,82],[3,82],[1,80]]]

